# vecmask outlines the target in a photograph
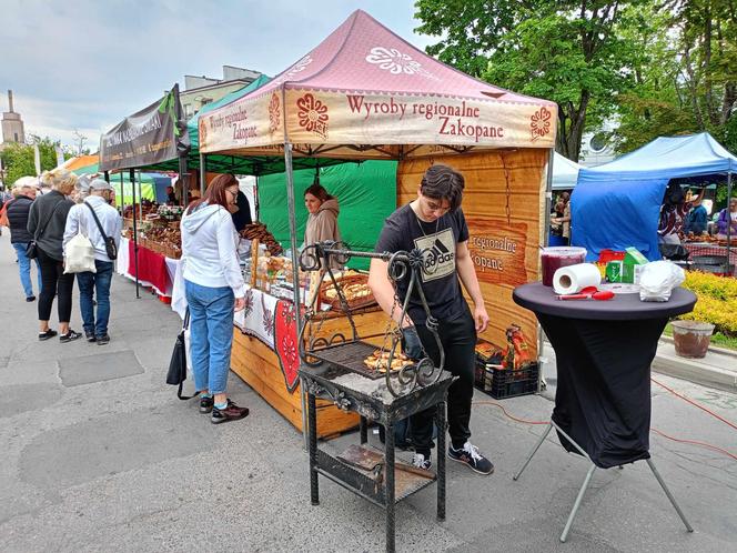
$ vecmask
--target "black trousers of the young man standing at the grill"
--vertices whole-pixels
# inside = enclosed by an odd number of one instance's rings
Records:
[[[445,352],[445,370],[458,376],[447,393],[448,433],[453,448],[462,448],[471,438],[471,401],[474,395],[474,363],[476,348],[476,324],[466,305],[457,318],[438,321],[438,334]],[[435,365],[440,364],[440,350],[433,333],[425,325],[417,325],[417,334]],[[412,416],[412,441],[415,451],[430,456],[433,442],[433,416],[435,409],[428,409]],[[438,432],[443,432],[438,429]],[[438,455],[444,455],[440,451]]]

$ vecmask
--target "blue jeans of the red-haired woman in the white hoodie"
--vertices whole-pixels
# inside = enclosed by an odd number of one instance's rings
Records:
[[[225,393],[233,344],[233,291],[230,286],[201,286],[185,280],[184,294],[190,306],[194,386],[211,394]]]

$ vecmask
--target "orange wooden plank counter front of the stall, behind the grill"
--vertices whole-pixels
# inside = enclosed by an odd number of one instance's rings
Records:
[[[360,314],[354,318],[360,334],[383,332],[386,315],[381,311]],[[342,316],[325,321],[321,334],[342,331],[350,336],[350,324]],[[372,340],[375,341],[376,339]],[[276,353],[260,340],[233,329],[231,369],[246,384],[255,390],[266,403],[279,411],[289,422],[302,432],[302,401],[300,385],[290,393],[279,365]],[[317,400],[317,436],[336,436],[359,425],[356,413],[346,413],[332,402]]]

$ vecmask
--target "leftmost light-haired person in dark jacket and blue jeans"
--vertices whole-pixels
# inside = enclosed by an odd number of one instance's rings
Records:
[[[28,243],[33,240],[33,237],[28,232],[28,214],[36,199],[34,181],[33,177],[18,179],[13,185],[13,190],[17,191],[16,199],[6,205],[6,215],[10,227],[10,243],[13,244],[18,255],[20,283],[23,286],[26,301],[28,302],[36,301],[33,284],[31,283],[31,260],[26,255]],[[36,271],[39,280],[39,293],[41,293],[41,268],[38,259],[36,260]]]

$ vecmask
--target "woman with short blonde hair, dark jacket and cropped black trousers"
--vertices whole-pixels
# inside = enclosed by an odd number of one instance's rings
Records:
[[[62,343],[79,339],[82,334],[69,328],[72,314],[74,274],[64,274],[62,240],[67,215],[74,203],[68,198],[74,191],[77,175],[67,169],[54,169],[44,175],[51,191],[38,198],[28,217],[28,232],[33,235],[41,268],[41,294],[39,295],[39,340],[49,340],[57,331],[49,328],[54,293],[59,313],[59,340]]]

